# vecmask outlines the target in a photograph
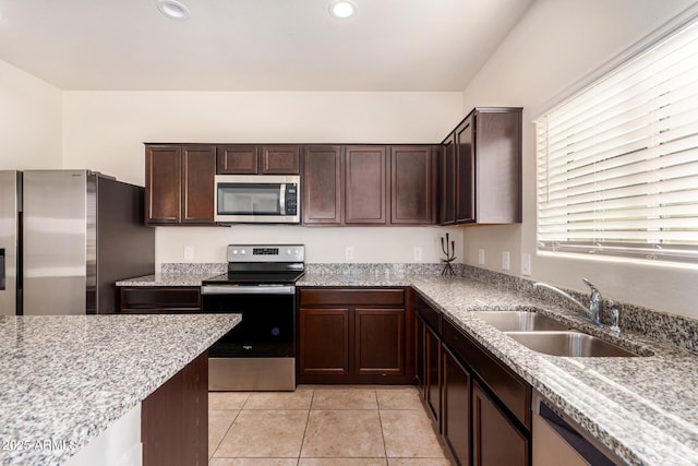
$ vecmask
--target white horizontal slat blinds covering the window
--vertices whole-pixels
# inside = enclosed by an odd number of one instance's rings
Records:
[[[540,250],[698,262],[698,25],[535,121]]]

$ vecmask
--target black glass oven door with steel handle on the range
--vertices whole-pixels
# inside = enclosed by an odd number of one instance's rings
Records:
[[[210,358],[296,355],[294,286],[203,286],[202,310],[242,314],[242,322],[210,347]]]

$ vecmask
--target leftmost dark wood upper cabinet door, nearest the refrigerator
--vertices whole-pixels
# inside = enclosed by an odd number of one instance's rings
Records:
[[[179,145],[145,148],[145,223],[179,224],[181,218],[182,150]]]

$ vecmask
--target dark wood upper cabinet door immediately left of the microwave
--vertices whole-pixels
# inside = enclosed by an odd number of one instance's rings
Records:
[[[182,224],[214,223],[216,152],[210,145],[182,147]]]

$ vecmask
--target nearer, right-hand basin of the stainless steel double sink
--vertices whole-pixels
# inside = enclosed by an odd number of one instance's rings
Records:
[[[567,332],[507,332],[512,338],[533,351],[568,357],[634,357],[638,356],[619,346],[586,333]]]

